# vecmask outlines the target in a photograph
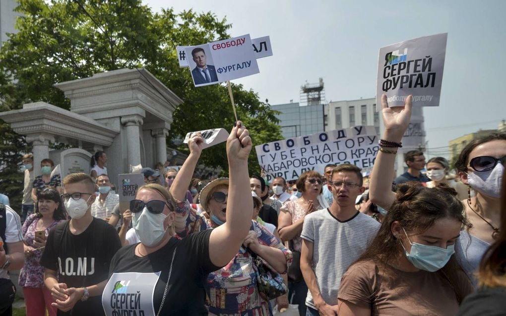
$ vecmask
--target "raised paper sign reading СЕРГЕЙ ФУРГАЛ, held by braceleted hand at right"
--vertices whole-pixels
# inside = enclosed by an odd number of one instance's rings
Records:
[[[418,37],[379,49],[376,111],[384,93],[389,107],[404,106],[409,95],[414,106],[439,106],[447,35]]]

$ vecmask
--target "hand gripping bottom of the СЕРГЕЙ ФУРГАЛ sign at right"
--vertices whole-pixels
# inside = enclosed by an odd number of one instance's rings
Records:
[[[385,123],[385,132],[392,135],[393,139],[389,141],[400,142],[411,119],[411,100],[413,96],[409,95],[404,101],[404,107],[388,107],[387,95],[381,96],[381,107],[383,122]]]

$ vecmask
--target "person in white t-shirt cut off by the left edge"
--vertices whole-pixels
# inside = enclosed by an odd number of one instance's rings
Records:
[[[12,315],[12,302],[16,287],[9,279],[8,271],[23,267],[23,236],[21,219],[9,206],[0,205],[0,315]],[[7,252],[6,252],[7,248]]]

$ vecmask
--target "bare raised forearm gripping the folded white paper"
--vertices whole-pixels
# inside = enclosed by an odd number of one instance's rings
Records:
[[[200,158],[200,154],[202,153],[203,144],[204,140],[200,133],[193,133],[188,141],[190,155],[186,158],[181,170],[176,174],[176,178],[169,190],[172,196],[178,201],[184,201],[186,199],[186,193],[188,192],[193,172],[197,166],[198,158]]]

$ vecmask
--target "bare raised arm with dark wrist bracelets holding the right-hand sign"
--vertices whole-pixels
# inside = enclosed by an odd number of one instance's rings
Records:
[[[411,119],[411,99],[412,96],[406,98],[404,107],[389,108],[387,95],[381,97],[382,116],[385,123],[384,140],[395,143],[401,142]],[[394,173],[396,155],[381,150],[396,152],[397,148],[380,148],[370,176],[369,199],[372,203],[388,209],[395,200],[395,193],[392,192],[392,174]]]

